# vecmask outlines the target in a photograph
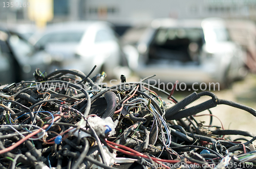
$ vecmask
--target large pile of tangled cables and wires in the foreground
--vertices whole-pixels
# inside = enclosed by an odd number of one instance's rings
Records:
[[[210,110],[209,125],[195,119],[218,104],[254,109],[211,92],[177,101],[123,75],[107,87],[104,72],[91,72],[36,70],[35,80],[0,86],[0,169],[256,168],[255,135],[212,126]],[[209,100],[186,108],[202,96]]]

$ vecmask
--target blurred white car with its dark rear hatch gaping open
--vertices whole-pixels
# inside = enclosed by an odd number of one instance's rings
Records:
[[[153,79],[161,82],[219,82],[225,87],[247,74],[245,51],[230,41],[225,22],[218,18],[156,19],[137,49],[128,60],[141,78],[156,74]]]

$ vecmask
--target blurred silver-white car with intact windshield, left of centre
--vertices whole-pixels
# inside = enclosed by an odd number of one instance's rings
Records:
[[[57,69],[79,69],[89,73],[105,71],[120,76],[118,68],[125,62],[112,25],[103,21],[56,23],[32,38],[35,46],[51,53]]]

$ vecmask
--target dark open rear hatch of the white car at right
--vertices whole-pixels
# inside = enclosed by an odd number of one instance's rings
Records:
[[[203,30],[199,28],[159,29],[150,45],[150,61],[198,61],[203,43]]]

